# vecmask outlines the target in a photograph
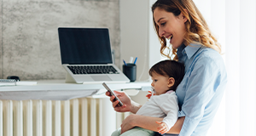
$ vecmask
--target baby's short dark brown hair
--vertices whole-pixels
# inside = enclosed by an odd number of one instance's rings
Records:
[[[148,72],[151,77],[153,73],[164,77],[173,77],[175,82],[170,89],[175,91],[178,84],[183,80],[185,66],[175,60],[166,59],[153,65]]]

